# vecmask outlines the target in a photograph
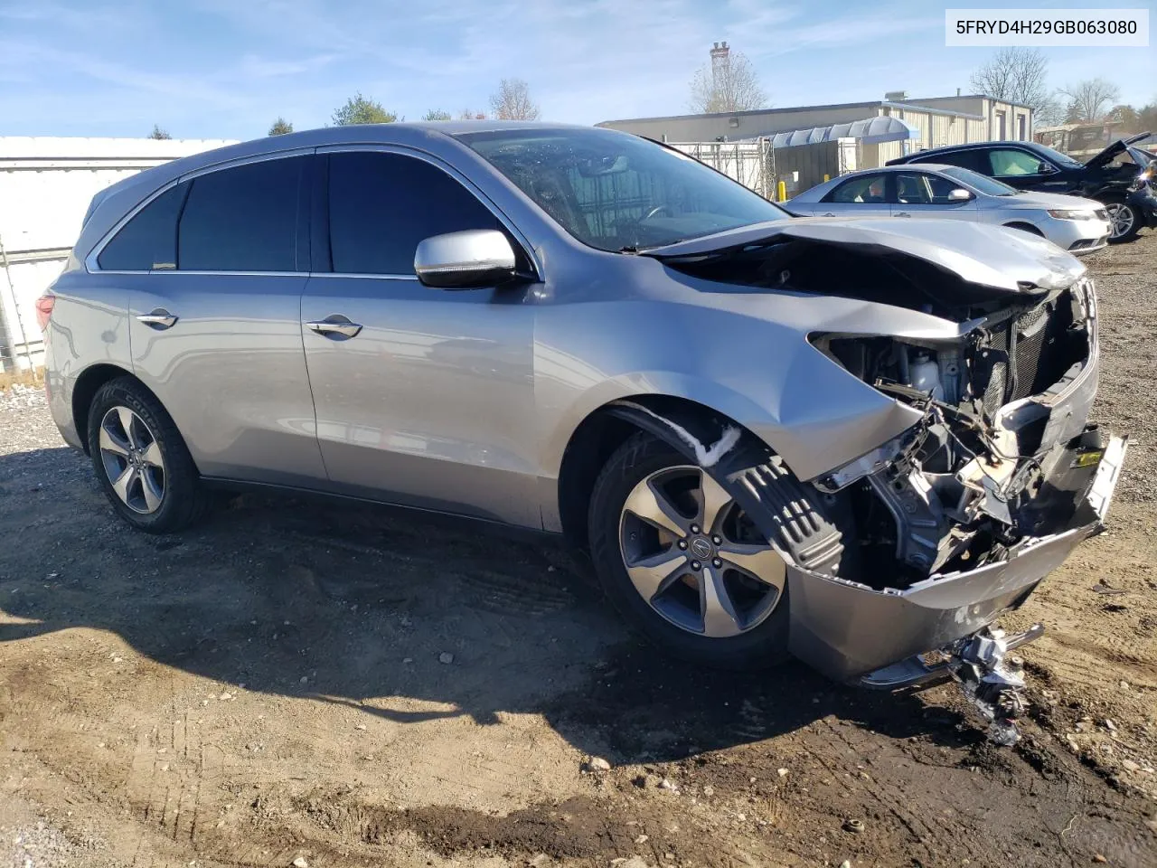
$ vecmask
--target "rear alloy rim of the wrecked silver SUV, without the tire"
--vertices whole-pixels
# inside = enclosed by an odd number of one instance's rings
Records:
[[[134,513],[149,515],[164,500],[164,456],[145,420],[125,406],[101,419],[101,462],[112,491]]]

